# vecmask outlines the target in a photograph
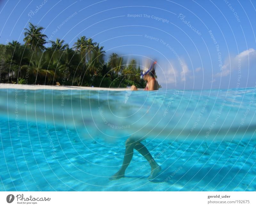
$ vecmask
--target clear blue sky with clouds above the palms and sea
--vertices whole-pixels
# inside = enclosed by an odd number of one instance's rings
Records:
[[[0,1],[0,43],[23,43],[31,22],[70,46],[91,37],[106,58],[116,52],[143,66],[157,60],[164,89],[254,87],[255,8],[255,0]]]

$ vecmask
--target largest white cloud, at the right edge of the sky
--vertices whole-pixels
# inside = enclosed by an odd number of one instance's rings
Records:
[[[249,70],[249,67],[253,66],[250,64],[250,62],[253,60],[256,60],[256,50],[253,48],[244,50],[235,57],[230,57],[230,59],[227,59],[225,64],[222,66],[222,71],[215,74],[214,77],[224,77],[230,75],[230,72],[238,69],[239,61],[241,63],[241,70],[246,70],[246,68]]]

